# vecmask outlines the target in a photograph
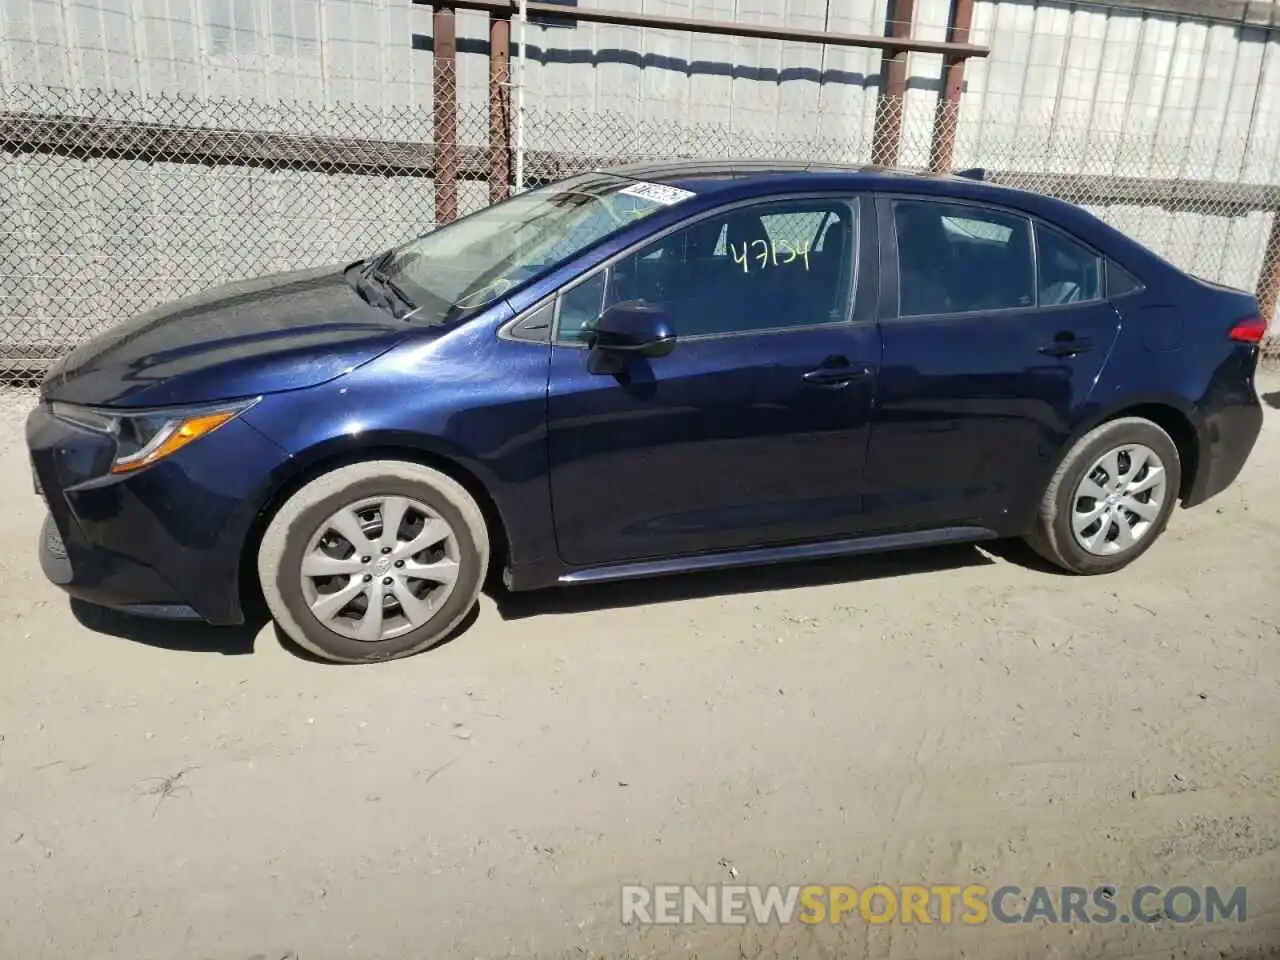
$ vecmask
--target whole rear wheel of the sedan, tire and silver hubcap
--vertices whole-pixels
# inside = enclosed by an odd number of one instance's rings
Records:
[[[1110,573],[1164,532],[1180,488],[1181,462],[1169,434],[1142,417],[1112,420],[1068,452],[1028,543],[1073,573]]]

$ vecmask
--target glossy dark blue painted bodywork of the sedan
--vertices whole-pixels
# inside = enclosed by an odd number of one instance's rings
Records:
[[[210,291],[73,351],[27,425],[65,544],[64,588],[108,605],[238,622],[265,520],[306,479],[353,458],[452,472],[494,525],[508,582],[529,589],[884,549],[956,530],[1020,534],[1069,444],[1139,407],[1183,447],[1185,504],[1230,484],[1249,456],[1261,428],[1257,349],[1228,332],[1257,303],[1187,276],[1083,210],[874,169],[622,173],[694,196],[449,323],[394,319],[339,265]],[[1139,283],[1093,303],[902,316],[895,196],[1052,224]],[[768,329],[791,308],[769,291],[790,282],[765,284],[732,306],[701,303],[695,319],[709,333],[682,338],[686,311],[672,321],[668,355],[622,362],[584,342],[553,344],[549,308],[524,323],[636,244],[777,197],[851,211],[858,233],[842,250],[856,257],[815,248],[804,262],[846,270],[836,282],[844,312]],[[773,270],[777,251],[769,256]],[[741,317],[755,317],[751,329],[730,332]],[[242,397],[260,399],[123,475],[110,472],[109,436],[50,406],[127,412]]]

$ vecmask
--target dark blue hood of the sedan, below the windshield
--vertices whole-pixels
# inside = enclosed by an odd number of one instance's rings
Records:
[[[273,274],[165,303],[79,344],[41,387],[47,399],[160,407],[332,380],[408,334],[342,266]]]

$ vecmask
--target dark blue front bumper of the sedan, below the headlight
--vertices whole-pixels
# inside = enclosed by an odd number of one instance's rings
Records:
[[[114,444],[59,420],[27,419],[45,576],[72,596],[152,617],[243,622],[246,536],[285,454],[233,420],[173,457],[111,475]]]

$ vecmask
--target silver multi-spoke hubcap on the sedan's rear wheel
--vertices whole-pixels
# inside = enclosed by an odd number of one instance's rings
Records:
[[[1128,443],[1098,457],[1071,500],[1075,541],[1098,557],[1132,550],[1165,503],[1165,465],[1156,452]]]

